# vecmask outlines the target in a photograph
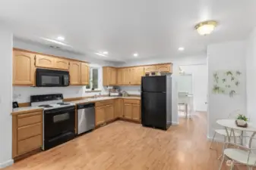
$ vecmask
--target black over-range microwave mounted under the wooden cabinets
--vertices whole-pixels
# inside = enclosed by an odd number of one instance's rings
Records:
[[[68,85],[68,71],[36,69],[37,87],[64,87]]]

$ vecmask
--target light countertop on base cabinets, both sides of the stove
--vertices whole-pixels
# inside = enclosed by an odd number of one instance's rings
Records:
[[[83,100],[74,100],[74,101],[69,101],[65,103],[85,104],[85,103],[95,103],[96,101],[102,101],[102,100],[113,100],[117,98],[141,100],[141,97],[98,97],[98,98],[86,98]],[[20,113],[29,113],[29,112],[36,112],[36,111],[42,111],[42,110],[43,110],[43,107],[18,107],[13,109],[11,114],[16,115]]]

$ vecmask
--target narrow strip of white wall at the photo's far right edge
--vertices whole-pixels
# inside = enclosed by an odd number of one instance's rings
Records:
[[[251,32],[247,42],[246,55],[246,100],[250,121],[256,123],[256,28]]]

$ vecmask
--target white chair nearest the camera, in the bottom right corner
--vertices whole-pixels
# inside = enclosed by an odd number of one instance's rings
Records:
[[[231,144],[232,148],[226,148],[223,151],[223,159],[220,162],[219,170],[221,170],[225,159],[229,159],[232,161],[230,164],[230,170],[232,170],[235,165],[246,165],[248,167],[248,170],[252,170],[254,167],[256,167],[256,154],[253,152],[254,150],[256,150],[256,148],[251,147],[251,141],[255,141],[255,138],[253,138],[253,136],[243,137],[250,138],[248,147],[242,146],[240,144],[226,142],[227,145]]]

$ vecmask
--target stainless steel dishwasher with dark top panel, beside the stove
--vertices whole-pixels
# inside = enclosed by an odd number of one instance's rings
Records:
[[[90,131],[95,127],[94,104],[77,104],[77,134]]]

